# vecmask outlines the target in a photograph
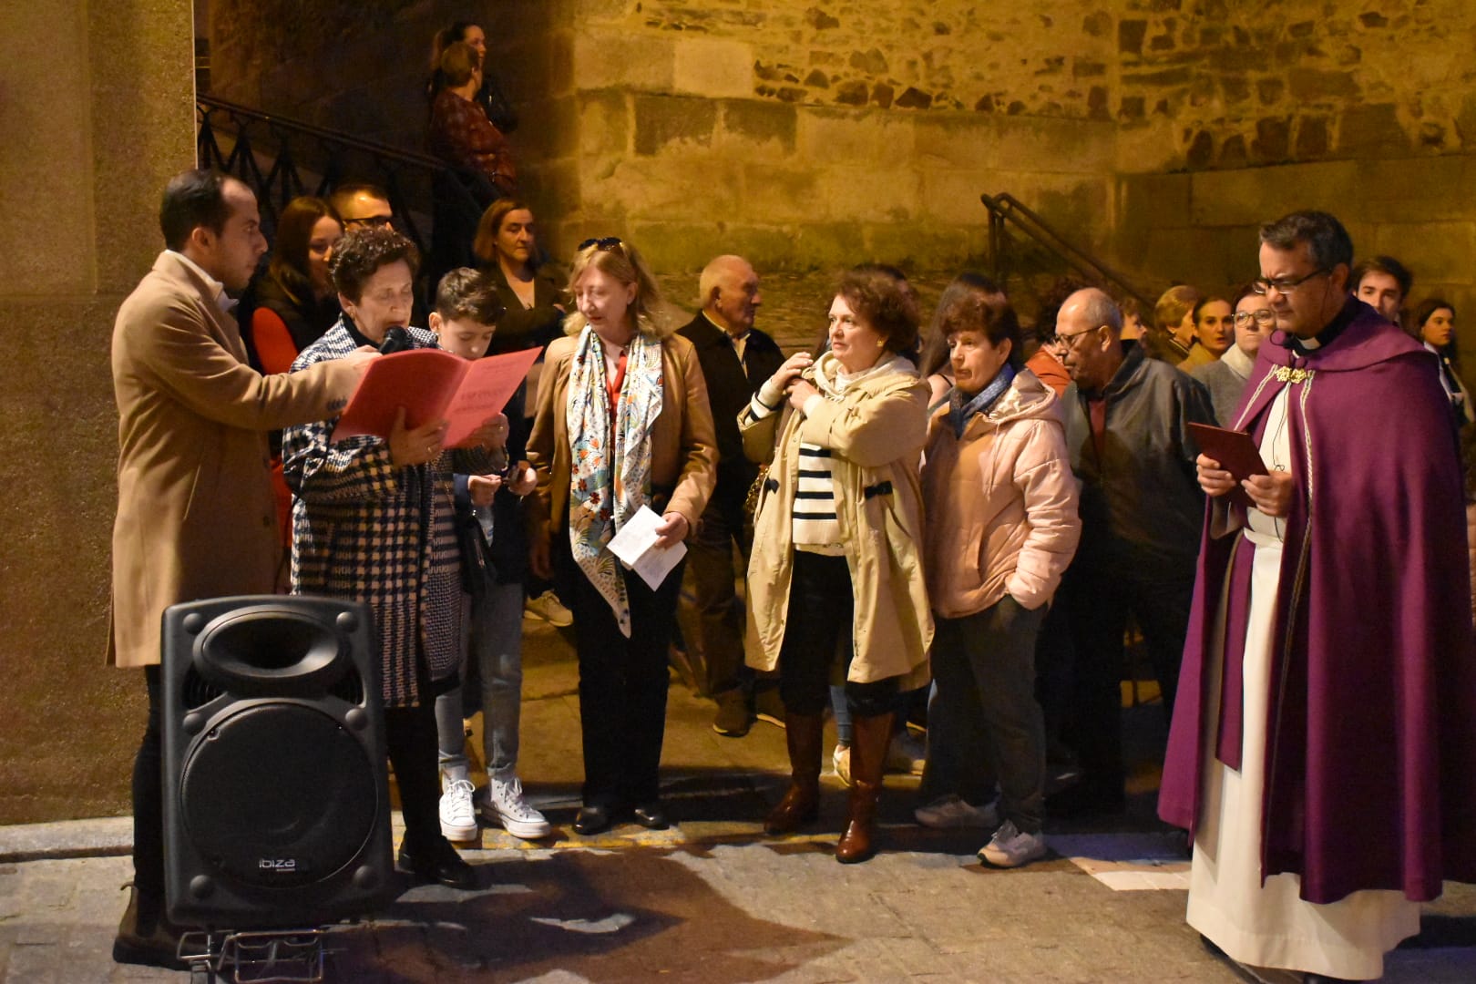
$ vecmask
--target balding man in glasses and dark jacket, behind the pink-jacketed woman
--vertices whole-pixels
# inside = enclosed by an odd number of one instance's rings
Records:
[[[1187,425],[1215,422],[1209,392],[1120,333],[1117,305],[1095,288],[1066,298],[1055,322],[1072,373],[1066,446],[1082,482],[1082,541],[1061,584],[1076,648],[1066,738],[1082,775],[1048,801],[1061,816],[1125,805],[1119,682],[1129,614],[1172,708],[1204,513]]]

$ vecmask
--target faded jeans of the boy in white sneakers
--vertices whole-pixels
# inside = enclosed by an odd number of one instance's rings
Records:
[[[466,658],[481,680],[481,746],[487,772],[509,775],[518,764],[518,723],[523,714],[523,584],[487,583],[475,603],[463,599]],[[462,689],[435,698],[435,732],[441,769],[466,770],[462,730]]]

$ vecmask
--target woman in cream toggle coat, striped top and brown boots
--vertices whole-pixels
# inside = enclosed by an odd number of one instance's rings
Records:
[[[917,301],[878,268],[846,273],[830,351],[791,356],[739,415],[744,451],[769,474],[748,564],[748,661],[779,670],[790,789],[765,831],[816,817],[831,659],[855,717],[850,820],[835,860],[865,862],[899,690],[927,682],[933,637],[918,543],[918,462],[928,388],[905,353]]]

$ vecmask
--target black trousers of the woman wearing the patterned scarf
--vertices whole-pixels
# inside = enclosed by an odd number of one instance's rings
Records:
[[[559,595],[574,614],[579,651],[579,721],[584,744],[584,805],[620,808],[654,803],[661,792],[666,736],[667,649],[682,589],[682,564],[651,590],[620,567],[630,600],[626,639],[610,603],[570,555],[568,533],[555,534]],[[617,564],[618,567],[618,564]]]

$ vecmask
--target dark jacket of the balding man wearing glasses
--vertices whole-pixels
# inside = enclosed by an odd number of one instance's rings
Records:
[[[1079,564],[1194,567],[1204,493],[1194,471],[1199,446],[1188,423],[1215,423],[1204,387],[1123,342],[1107,384],[1103,453],[1092,441],[1086,394],[1066,388],[1066,446],[1082,482]]]

